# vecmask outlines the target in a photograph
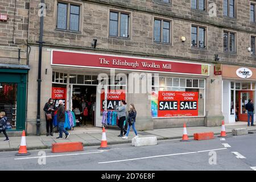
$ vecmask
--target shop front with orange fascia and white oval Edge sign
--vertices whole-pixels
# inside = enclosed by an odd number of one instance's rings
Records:
[[[221,65],[223,80],[223,113],[225,122],[247,122],[245,105],[249,99],[255,107],[256,69]],[[254,111],[255,114],[255,111]]]

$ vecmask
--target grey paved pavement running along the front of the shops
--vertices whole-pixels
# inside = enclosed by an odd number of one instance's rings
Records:
[[[247,126],[247,122],[236,122],[233,124],[225,124],[227,134],[232,134],[233,129],[245,128],[248,131],[256,131],[256,126]],[[100,127],[75,127],[74,130],[69,130],[71,135],[68,139],[56,139],[59,136],[58,133],[54,133],[53,137],[41,135],[41,136],[27,136],[26,144],[27,150],[40,150],[51,148],[53,143],[60,142],[82,142],[84,146],[100,146],[102,138],[102,129]],[[217,127],[187,127],[188,137],[193,138],[194,133],[213,132],[214,135],[220,135],[221,126]],[[108,144],[121,144],[131,143],[131,139],[135,136],[132,129],[128,139],[122,139],[117,137],[120,131],[117,129],[106,128],[106,138]],[[183,127],[172,129],[155,129],[138,131],[139,137],[157,137],[158,140],[165,139],[179,139],[183,135]],[[64,134],[65,136],[65,134]],[[0,152],[1,151],[18,151],[21,137],[10,137],[9,142],[3,141],[5,138],[0,138]]]

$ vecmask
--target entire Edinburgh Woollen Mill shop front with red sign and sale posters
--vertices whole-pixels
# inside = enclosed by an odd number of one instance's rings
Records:
[[[52,97],[75,114],[87,107],[85,123],[76,117],[82,126],[101,127],[103,116],[108,126],[117,127],[118,121],[108,117],[120,100],[135,104],[141,129],[168,118],[204,121],[208,64],[59,49],[51,55]]]

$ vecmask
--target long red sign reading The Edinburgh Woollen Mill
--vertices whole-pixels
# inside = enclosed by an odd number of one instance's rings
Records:
[[[52,51],[52,65],[209,75],[209,65],[115,55]]]

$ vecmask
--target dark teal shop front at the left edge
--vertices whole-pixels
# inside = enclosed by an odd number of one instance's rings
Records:
[[[0,68],[0,111],[6,114],[7,131],[25,129],[28,69],[25,65],[2,65]]]

